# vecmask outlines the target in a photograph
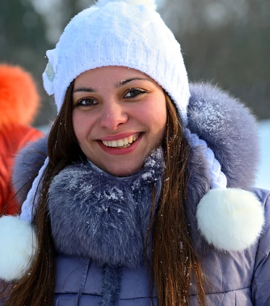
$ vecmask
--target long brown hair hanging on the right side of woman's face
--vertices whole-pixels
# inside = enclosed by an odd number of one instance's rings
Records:
[[[205,278],[188,234],[187,161],[190,147],[175,105],[166,94],[167,129],[163,143],[165,169],[161,196],[154,215],[151,269],[158,305],[189,304],[191,282],[200,306],[205,305]],[[152,221],[150,221],[151,224]],[[147,240],[147,239],[146,239]],[[147,245],[147,242],[146,242]],[[147,254],[147,252],[145,252]]]

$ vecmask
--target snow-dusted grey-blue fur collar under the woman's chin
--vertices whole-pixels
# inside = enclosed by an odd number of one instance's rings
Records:
[[[91,163],[63,169],[48,193],[56,249],[100,265],[142,264],[152,184],[159,194],[163,167],[159,148],[145,160],[144,169],[128,177],[101,172]]]

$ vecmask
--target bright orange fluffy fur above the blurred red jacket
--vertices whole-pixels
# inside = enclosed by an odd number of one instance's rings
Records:
[[[30,73],[19,66],[0,65],[0,129],[13,124],[30,124],[39,100]]]

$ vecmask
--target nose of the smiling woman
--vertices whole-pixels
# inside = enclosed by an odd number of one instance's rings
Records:
[[[115,131],[120,124],[128,121],[128,114],[116,100],[108,100],[103,104],[100,126]]]

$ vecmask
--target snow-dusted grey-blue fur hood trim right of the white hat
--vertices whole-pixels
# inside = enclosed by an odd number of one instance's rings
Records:
[[[192,84],[188,124],[207,142],[227,176],[228,188],[250,190],[259,160],[254,116],[239,100],[210,84]]]

